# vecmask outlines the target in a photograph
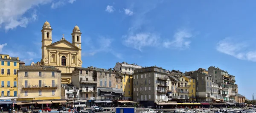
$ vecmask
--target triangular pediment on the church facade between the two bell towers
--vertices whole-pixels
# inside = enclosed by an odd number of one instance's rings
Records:
[[[77,46],[73,45],[72,43],[70,43],[67,40],[61,40],[61,41],[57,41],[55,43],[50,44],[49,46],[51,47],[64,47],[64,48],[70,48],[70,49],[80,49]]]

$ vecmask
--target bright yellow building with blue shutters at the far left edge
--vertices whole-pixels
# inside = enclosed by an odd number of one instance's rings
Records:
[[[0,104],[12,104],[12,99],[17,99],[17,69],[20,60],[18,57],[0,54]]]

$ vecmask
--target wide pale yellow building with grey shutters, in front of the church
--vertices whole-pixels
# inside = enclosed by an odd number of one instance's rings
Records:
[[[51,104],[38,101],[61,99],[61,71],[53,66],[20,66],[18,89],[18,101]]]

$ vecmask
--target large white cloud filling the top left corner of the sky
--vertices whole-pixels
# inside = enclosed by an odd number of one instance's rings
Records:
[[[6,31],[17,26],[26,27],[36,19],[36,12],[31,17],[25,17],[24,14],[35,6],[49,2],[51,0],[0,0],[0,27],[3,26]]]

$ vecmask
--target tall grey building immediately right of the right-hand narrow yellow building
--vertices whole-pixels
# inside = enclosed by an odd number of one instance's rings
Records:
[[[191,78],[196,80],[196,99],[197,101],[213,101],[212,95],[212,76],[201,70],[192,73]]]

